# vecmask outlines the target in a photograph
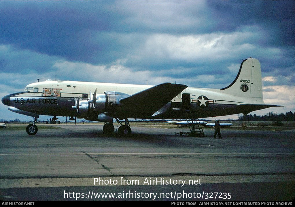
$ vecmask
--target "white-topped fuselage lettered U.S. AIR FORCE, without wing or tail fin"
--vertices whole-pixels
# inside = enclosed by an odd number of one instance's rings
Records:
[[[27,85],[24,92],[8,95],[4,98],[4,102],[9,106],[38,115],[75,116],[75,110],[73,109],[75,98],[80,97],[81,100],[89,99],[90,90],[94,91],[97,89],[97,94],[104,94],[105,91],[120,91],[132,95],[150,87],[152,86],[47,80]],[[195,113],[196,117],[247,113],[250,109],[245,108],[244,105],[260,105],[258,108],[253,108],[253,110],[261,109],[265,105],[260,98],[253,100],[241,97],[237,100],[235,96],[223,93],[220,89],[186,88],[169,102],[169,108],[164,113],[155,117],[152,117],[152,114],[142,114],[132,117],[132,114],[128,114],[128,110],[126,111],[125,109],[122,112],[118,110],[117,117],[184,118],[182,111],[184,97],[189,101],[191,110]],[[148,105],[149,103],[146,104]],[[90,117],[78,116],[78,118],[97,120],[97,114],[92,114]]]

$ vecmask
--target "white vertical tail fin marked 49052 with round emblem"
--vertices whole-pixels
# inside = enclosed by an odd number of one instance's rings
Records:
[[[261,66],[258,59],[245,59],[235,80],[229,86],[220,90],[234,96],[263,99]]]

